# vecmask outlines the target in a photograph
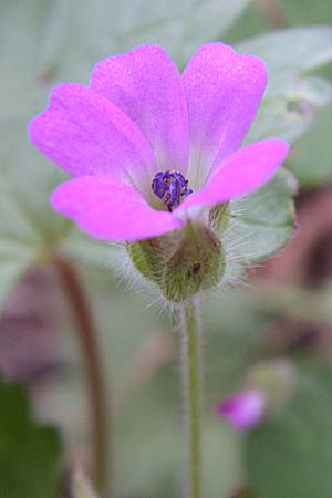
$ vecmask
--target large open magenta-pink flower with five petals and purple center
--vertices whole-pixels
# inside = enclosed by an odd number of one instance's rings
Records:
[[[162,48],[142,45],[100,62],[89,86],[60,84],[30,123],[73,177],[54,209],[95,238],[131,241],[257,189],[288,153],[278,138],[239,148],[266,82],[260,59],[209,43],[181,75]]]

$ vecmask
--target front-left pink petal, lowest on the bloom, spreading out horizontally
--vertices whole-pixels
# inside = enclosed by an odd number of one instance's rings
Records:
[[[107,178],[69,180],[53,191],[51,201],[56,211],[97,239],[139,240],[181,225],[169,212],[152,209],[131,186]]]

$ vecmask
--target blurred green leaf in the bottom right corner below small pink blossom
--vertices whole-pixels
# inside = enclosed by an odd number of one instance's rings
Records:
[[[258,498],[332,496],[332,372],[300,375],[283,413],[248,435],[248,480]]]

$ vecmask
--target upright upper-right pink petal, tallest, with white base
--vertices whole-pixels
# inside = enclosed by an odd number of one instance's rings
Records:
[[[189,114],[189,178],[201,186],[210,168],[241,144],[262,97],[267,72],[253,56],[224,43],[203,45],[183,74]]]

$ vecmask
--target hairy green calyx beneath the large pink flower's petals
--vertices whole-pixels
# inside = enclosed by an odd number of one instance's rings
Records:
[[[128,252],[141,274],[157,283],[170,302],[211,289],[225,273],[222,243],[199,222],[187,222],[173,234],[133,242]]]

